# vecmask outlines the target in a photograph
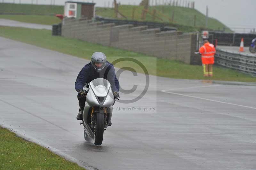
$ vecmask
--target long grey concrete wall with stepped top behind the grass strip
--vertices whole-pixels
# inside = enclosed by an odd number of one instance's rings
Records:
[[[187,64],[199,64],[195,59],[196,37],[177,31],[162,31],[148,26],[131,24],[103,24],[89,20],[64,18],[62,36],[144,53],[158,58],[179,60]],[[200,59],[200,58],[199,58]]]

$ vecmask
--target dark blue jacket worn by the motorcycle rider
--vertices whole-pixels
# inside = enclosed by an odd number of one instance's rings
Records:
[[[76,78],[76,91],[78,92],[80,89],[83,89],[85,83],[90,83],[92,80],[97,78],[107,79],[111,83],[112,91],[119,91],[119,82],[116,78],[115,68],[108,61],[100,73],[96,72],[96,70],[92,67],[91,62],[86,64]]]

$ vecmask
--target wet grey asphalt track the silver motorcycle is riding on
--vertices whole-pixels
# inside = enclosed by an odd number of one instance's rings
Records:
[[[150,76],[145,97],[129,105],[157,105],[157,113],[114,111],[102,146],[94,146],[84,141],[83,127],[76,120],[74,82],[88,61],[1,37],[0,42],[0,125],[81,166],[102,170],[256,167],[254,83]],[[120,84],[129,89],[133,79],[125,71]],[[121,106],[125,105],[115,104]]]

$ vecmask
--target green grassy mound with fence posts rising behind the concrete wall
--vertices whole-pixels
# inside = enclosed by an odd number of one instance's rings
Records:
[[[118,7],[118,10],[127,17],[127,19],[132,19],[132,12],[134,9],[134,20],[142,21],[141,13],[143,6],[133,6],[133,5],[121,5]],[[155,22],[169,22],[171,26],[178,27],[179,30],[188,30],[196,31],[200,29],[205,29],[205,15],[196,9],[185,8],[180,6],[170,6],[170,5],[158,5],[150,6],[149,12],[153,13],[153,10],[156,10],[156,19],[154,20],[152,15],[149,13],[146,15],[146,21],[155,21]],[[115,18],[115,12],[113,8],[96,8],[96,14],[102,17]],[[174,14],[174,15],[173,15]],[[173,22],[170,22],[170,18]],[[194,27],[194,20],[196,16],[196,27]],[[162,20],[158,19],[161,18]],[[187,28],[184,28],[188,26]],[[192,27],[192,28],[191,28]],[[226,31],[231,31],[227,26],[214,18],[208,19],[208,29],[223,30],[223,27],[226,28]],[[186,32],[188,32],[186,31]]]

